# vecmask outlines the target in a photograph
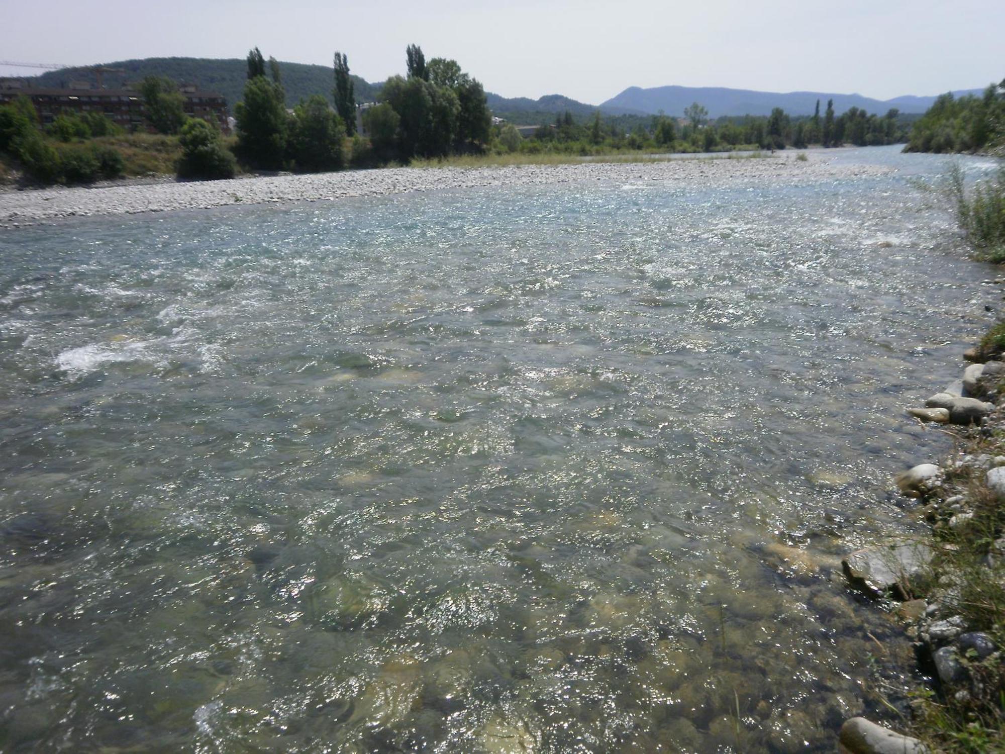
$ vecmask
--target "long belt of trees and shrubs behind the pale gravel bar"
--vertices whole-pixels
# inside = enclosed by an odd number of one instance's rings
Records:
[[[541,165],[583,158],[645,161],[667,153],[886,145],[904,141],[912,122],[896,110],[877,116],[852,108],[836,115],[832,102],[825,107],[818,102],[807,117],[791,117],[776,108],[767,117],[712,120],[707,109],[694,103],[682,118],[604,116],[600,111],[585,117],[566,111],[555,123],[531,131],[499,119],[493,122],[481,83],[457,61],[427,61],[420,47],[409,45],[405,63],[404,75],[391,76],[373,89],[379,102],[358,110],[358,78],[350,73],[346,55],[337,52],[331,88],[303,98],[290,109],[286,66],[274,58],[266,60],[254,48],[245,60],[232,138],[223,137],[214,124],[187,126],[177,84],[148,75],[140,91],[149,130],[160,139],[126,135],[98,114],[67,113],[44,131],[37,122],[25,126],[25,133],[34,130],[38,138],[17,141],[10,148],[0,144],[0,149],[6,151],[8,165],[20,168],[33,182],[86,183],[155,172],[213,179],[242,171]],[[18,107],[34,117],[30,104]],[[21,118],[17,108],[8,108],[15,120]]]

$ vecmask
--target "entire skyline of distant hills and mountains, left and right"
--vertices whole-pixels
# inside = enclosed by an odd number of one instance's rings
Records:
[[[148,57],[138,60],[120,60],[106,63],[110,68],[122,68],[119,72],[105,73],[106,86],[119,86],[123,82],[139,81],[146,75],[166,75],[177,81],[197,84],[203,89],[219,91],[227,99],[232,109],[239,102],[244,90],[247,64],[243,59],[216,59],[205,57]],[[311,95],[324,95],[332,101],[335,85],[331,66],[308,65],[305,63],[281,62],[282,83],[286,88],[286,103],[296,104]],[[66,86],[73,80],[93,81],[94,74],[87,68],[61,68],[34,76],[32,80],[39,86]],[[374,102],[380,96],[380,83],[370,83],[354,75],[356,99],[358,102]],[[981,89],[964,89],[955,95],[980,93]],[[569,111],[579,120],[590,118],[598,109],[614,116],[645,116],[665,113],[668,116],[682,116],[684,108],[692,103],[700,103],[709,110],[712,118],[720,116],[766,116],[773,108],[781,108],[789,115],[812,115],[817,100],[821,110],[827,100],[834,101],[834,110],[840,114],[849,108],[861,108],[869,113],[883,114],[890,108],[901,113],[924,113],[935,97],[897,97],[893,100],[872,100],[861,95],[834,95],[818,91],[790,91],[776,93],[750,89],[731,89],[719,86],[656,86],[640,88],[630,86],[615,98],[594,105],[571,100],[562,95],[548,95],[539,100],[526,97],[504,98],[486,93],[488,107],[508,121],[529,125],[548,123],[556,114]]]

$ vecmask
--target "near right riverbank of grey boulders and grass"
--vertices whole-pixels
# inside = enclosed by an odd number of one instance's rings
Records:
[[[931,537],[858,550],[842,562],[855,588],[898,603],[921,671],[933,679],[914,695],[904,723],[919,738],[849,720],[840,742],[848,754],[1005,747],[1005,362],[986,346],[966,356],[975,363],[961,380],[908,409],[920,421],[958,426],[956,454],[896,480],[919,501]]]

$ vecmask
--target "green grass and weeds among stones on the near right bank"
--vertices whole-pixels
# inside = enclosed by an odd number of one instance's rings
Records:
[[[986,356],[1000,358],[1001,351]],[[989,388],[982,397],[1000,402],[1005,382]],[[989,485],[988,468],[1005,456],[1005,425],[995,420],[965,429],[959,445],[960,457],[947,468],[942,500],[926,509],[933,524],[932,542],[927,543],[934,552],[933,576],[917,580],[911,595],[938,608],[935,618],[923,622],[922,636],[931,642],[936,666],[931,670],[940,680],[938,689],[915,693],[912,728],[932,751],[1001,753],[1005,752],[1005,664],[999,648],[1005,646],[1005,507],[1002,490]],[[933,637],[946,629],[956,641],[936,650],[944,639]]]

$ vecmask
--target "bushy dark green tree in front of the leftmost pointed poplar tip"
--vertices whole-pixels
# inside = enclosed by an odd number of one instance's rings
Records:
[[[288,126],[282,87],[264,75],[248,79],[234,117],[241,159],[265,170],[282,168]]]

